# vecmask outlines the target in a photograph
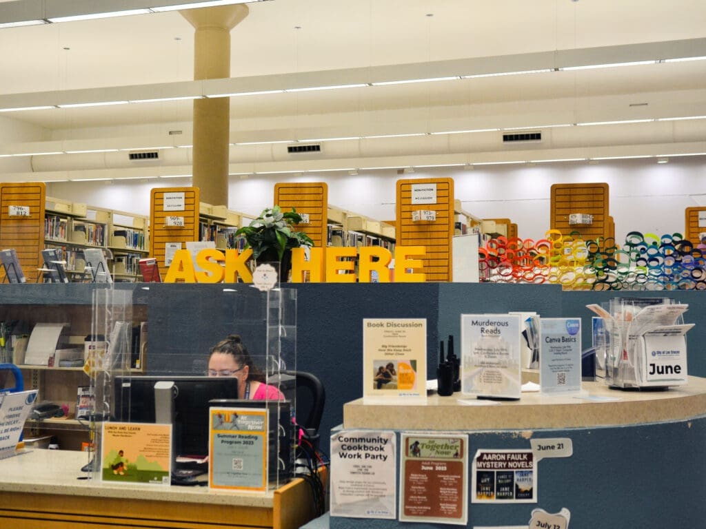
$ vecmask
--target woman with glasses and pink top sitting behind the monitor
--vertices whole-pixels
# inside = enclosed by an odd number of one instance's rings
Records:
[[[250,353],[238,334],[231,334],[211,348],[209,377],[236,377],[238,399],[277,401],[285,397],[279,389],[265,384],[265,375],[253,364]]]

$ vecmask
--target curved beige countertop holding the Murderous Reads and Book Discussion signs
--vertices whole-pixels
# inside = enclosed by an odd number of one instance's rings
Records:
[[[343,427],[385,430],[536,430],[639,425],[706,414],[706,379],[663,391],[622,391],[584,382],[583,397],[522,393],[519,401],[429,395],[426,404],[357,399],[343,407]]]

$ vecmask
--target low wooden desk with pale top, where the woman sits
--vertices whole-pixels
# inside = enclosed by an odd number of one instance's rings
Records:
[[[0,460],[0,527],[7,529],[296,529],[314,516],[309,485],[265,494],[208,487],[78,480],[87,455],[28,450]]]

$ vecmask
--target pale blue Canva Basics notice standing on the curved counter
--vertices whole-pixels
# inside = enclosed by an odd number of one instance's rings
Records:
[[[581,391],[580,318],[541,318],[539,336],[539,387],[542,393]]]

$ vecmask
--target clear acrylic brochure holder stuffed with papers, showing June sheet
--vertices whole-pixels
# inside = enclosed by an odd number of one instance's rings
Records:
[[[605,381],[620,389],[666,388],[687,383],[685,303],[669,298],[616,298],[588,305],[602,317],[597,363]],[[594,340],[596,338],[594,337]]]

